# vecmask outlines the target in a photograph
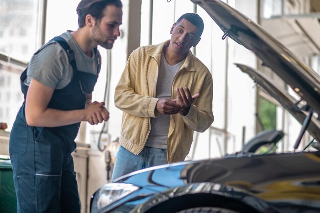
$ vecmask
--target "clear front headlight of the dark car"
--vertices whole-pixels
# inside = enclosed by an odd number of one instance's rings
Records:
[[[108,183],[102,186],[95,196],[97,210],[120,200],[139,190],[138,186],[129,183]]]

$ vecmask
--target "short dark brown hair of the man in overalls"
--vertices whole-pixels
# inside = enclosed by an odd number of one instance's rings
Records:
[[[92,15],[97,21],[100,21],[103,17],[103,10],[108,5],[122,8],[121,0],[81,0],[77,7],[79,27],[85,26],[85,17],[88,14]]]

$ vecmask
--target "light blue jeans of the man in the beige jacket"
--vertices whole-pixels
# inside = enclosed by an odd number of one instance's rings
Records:
[[[115,179],[137,170],[153,167],[154,165],[166,164],[166,152],[167,149],[144,147],[139,155],[135,155],[123,146],[120,146],[111,181],[113,182]]]

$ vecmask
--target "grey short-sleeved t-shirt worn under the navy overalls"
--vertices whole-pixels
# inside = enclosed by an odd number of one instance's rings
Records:
[[[79,71],[92,74],[99,73],[101,62],[97,61],[94,52],[92,57],[88,57],[68,31],[60,36],[73,49]],[[98,68],[97,63],[99,63]],[[29,85],[33,78],[51,88],[62,89],[71,82],[72,77],[73,68],[68,61],[65,50],[58,42],[52,41],[45,44],[38,54],[32,56],[27,69],[25,84]]]

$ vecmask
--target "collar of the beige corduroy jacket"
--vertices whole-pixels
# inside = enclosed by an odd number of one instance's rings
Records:
[[[167,40],[165,42],[154,45],[147,52],[159,64],[160,60],[161,60],[162,50],[164,49],[164,46],[168,45],[169,43],[170,43],[170,40]],[[182,64],[180,69],[186,68],[190,72],[195,71],[193,57],[194,56],[193,56],[192,52],[189,50],[188,55],[186,57],[186,60],[185,60],[184,64]]]

